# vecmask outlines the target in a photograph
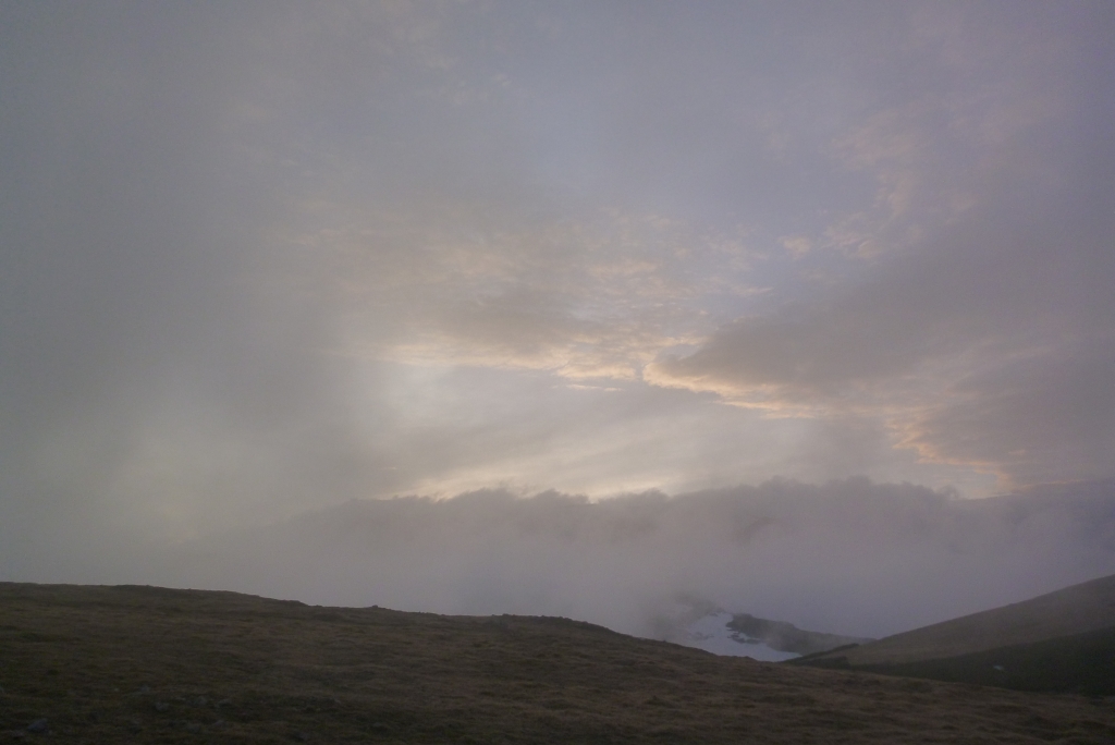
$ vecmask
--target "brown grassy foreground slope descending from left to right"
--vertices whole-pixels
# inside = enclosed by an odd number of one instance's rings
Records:
[[[1105,743],[1115,702],[787,668],[561,619],[0,583],[0,742]],[[45,718],[50,734],[26,727]]]

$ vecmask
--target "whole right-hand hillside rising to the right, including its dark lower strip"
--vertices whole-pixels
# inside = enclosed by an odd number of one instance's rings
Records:
[[[1115,575],[794,664],[1115,694]]]

